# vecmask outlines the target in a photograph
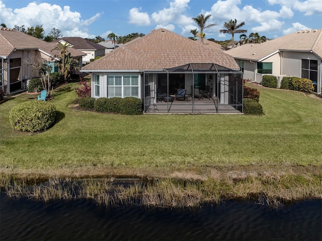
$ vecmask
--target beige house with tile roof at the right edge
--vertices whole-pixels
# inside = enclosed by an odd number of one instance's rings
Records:
[[[262,82],[265,74],[311,79],[321,92],[322,29],[303,30],[261,44],[245,44],[226,51],[244,72],[244,79]]]

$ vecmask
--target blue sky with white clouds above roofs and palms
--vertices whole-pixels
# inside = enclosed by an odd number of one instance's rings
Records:
[[[95,38],[114,33],[148,34],[166,28],[185,37],[193,37],[199,28],[192,20],[209,15],[206,38],[231,39],[220,33],[225,22],[245,22],[241,29],[268,39],[304,29],[322,28],[321,0],[0,0],[0,24],[8,28],[42,25],[45,36],[52,28],[64,37]],[[239,34],[234,36],[239,39]]]

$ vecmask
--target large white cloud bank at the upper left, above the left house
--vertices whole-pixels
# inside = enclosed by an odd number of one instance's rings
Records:
[[[7,27],[13,28],[15,25],[25,28],[42,25],[47,35],[52,28],[57,28],[63,36],[81,36],[92,37],[87,33],[89,25],[93,24],[100,18],[101,14],[97,13],[89,19],[83,20],[81,14],[70,11],[69,6],[61,8],[58,5],[48,3],[37,4],[29,3],[21,9],[6,8],[0,0],[0,22],[5,23]],[[95,36],[94,36],[95,37]]]

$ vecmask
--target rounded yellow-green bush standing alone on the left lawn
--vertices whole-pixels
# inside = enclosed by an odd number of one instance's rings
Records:
[[[28,101],[14,106],[9,113],[12,128],[36,132],[48,129],[55,123],[56,109],[45,101]]]

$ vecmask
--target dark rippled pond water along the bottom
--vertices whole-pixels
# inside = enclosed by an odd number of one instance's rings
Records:
[[[1,240],[321,240],[322,200],[271,208],[224,201],[195,209],[44,203],[0,194]]]

